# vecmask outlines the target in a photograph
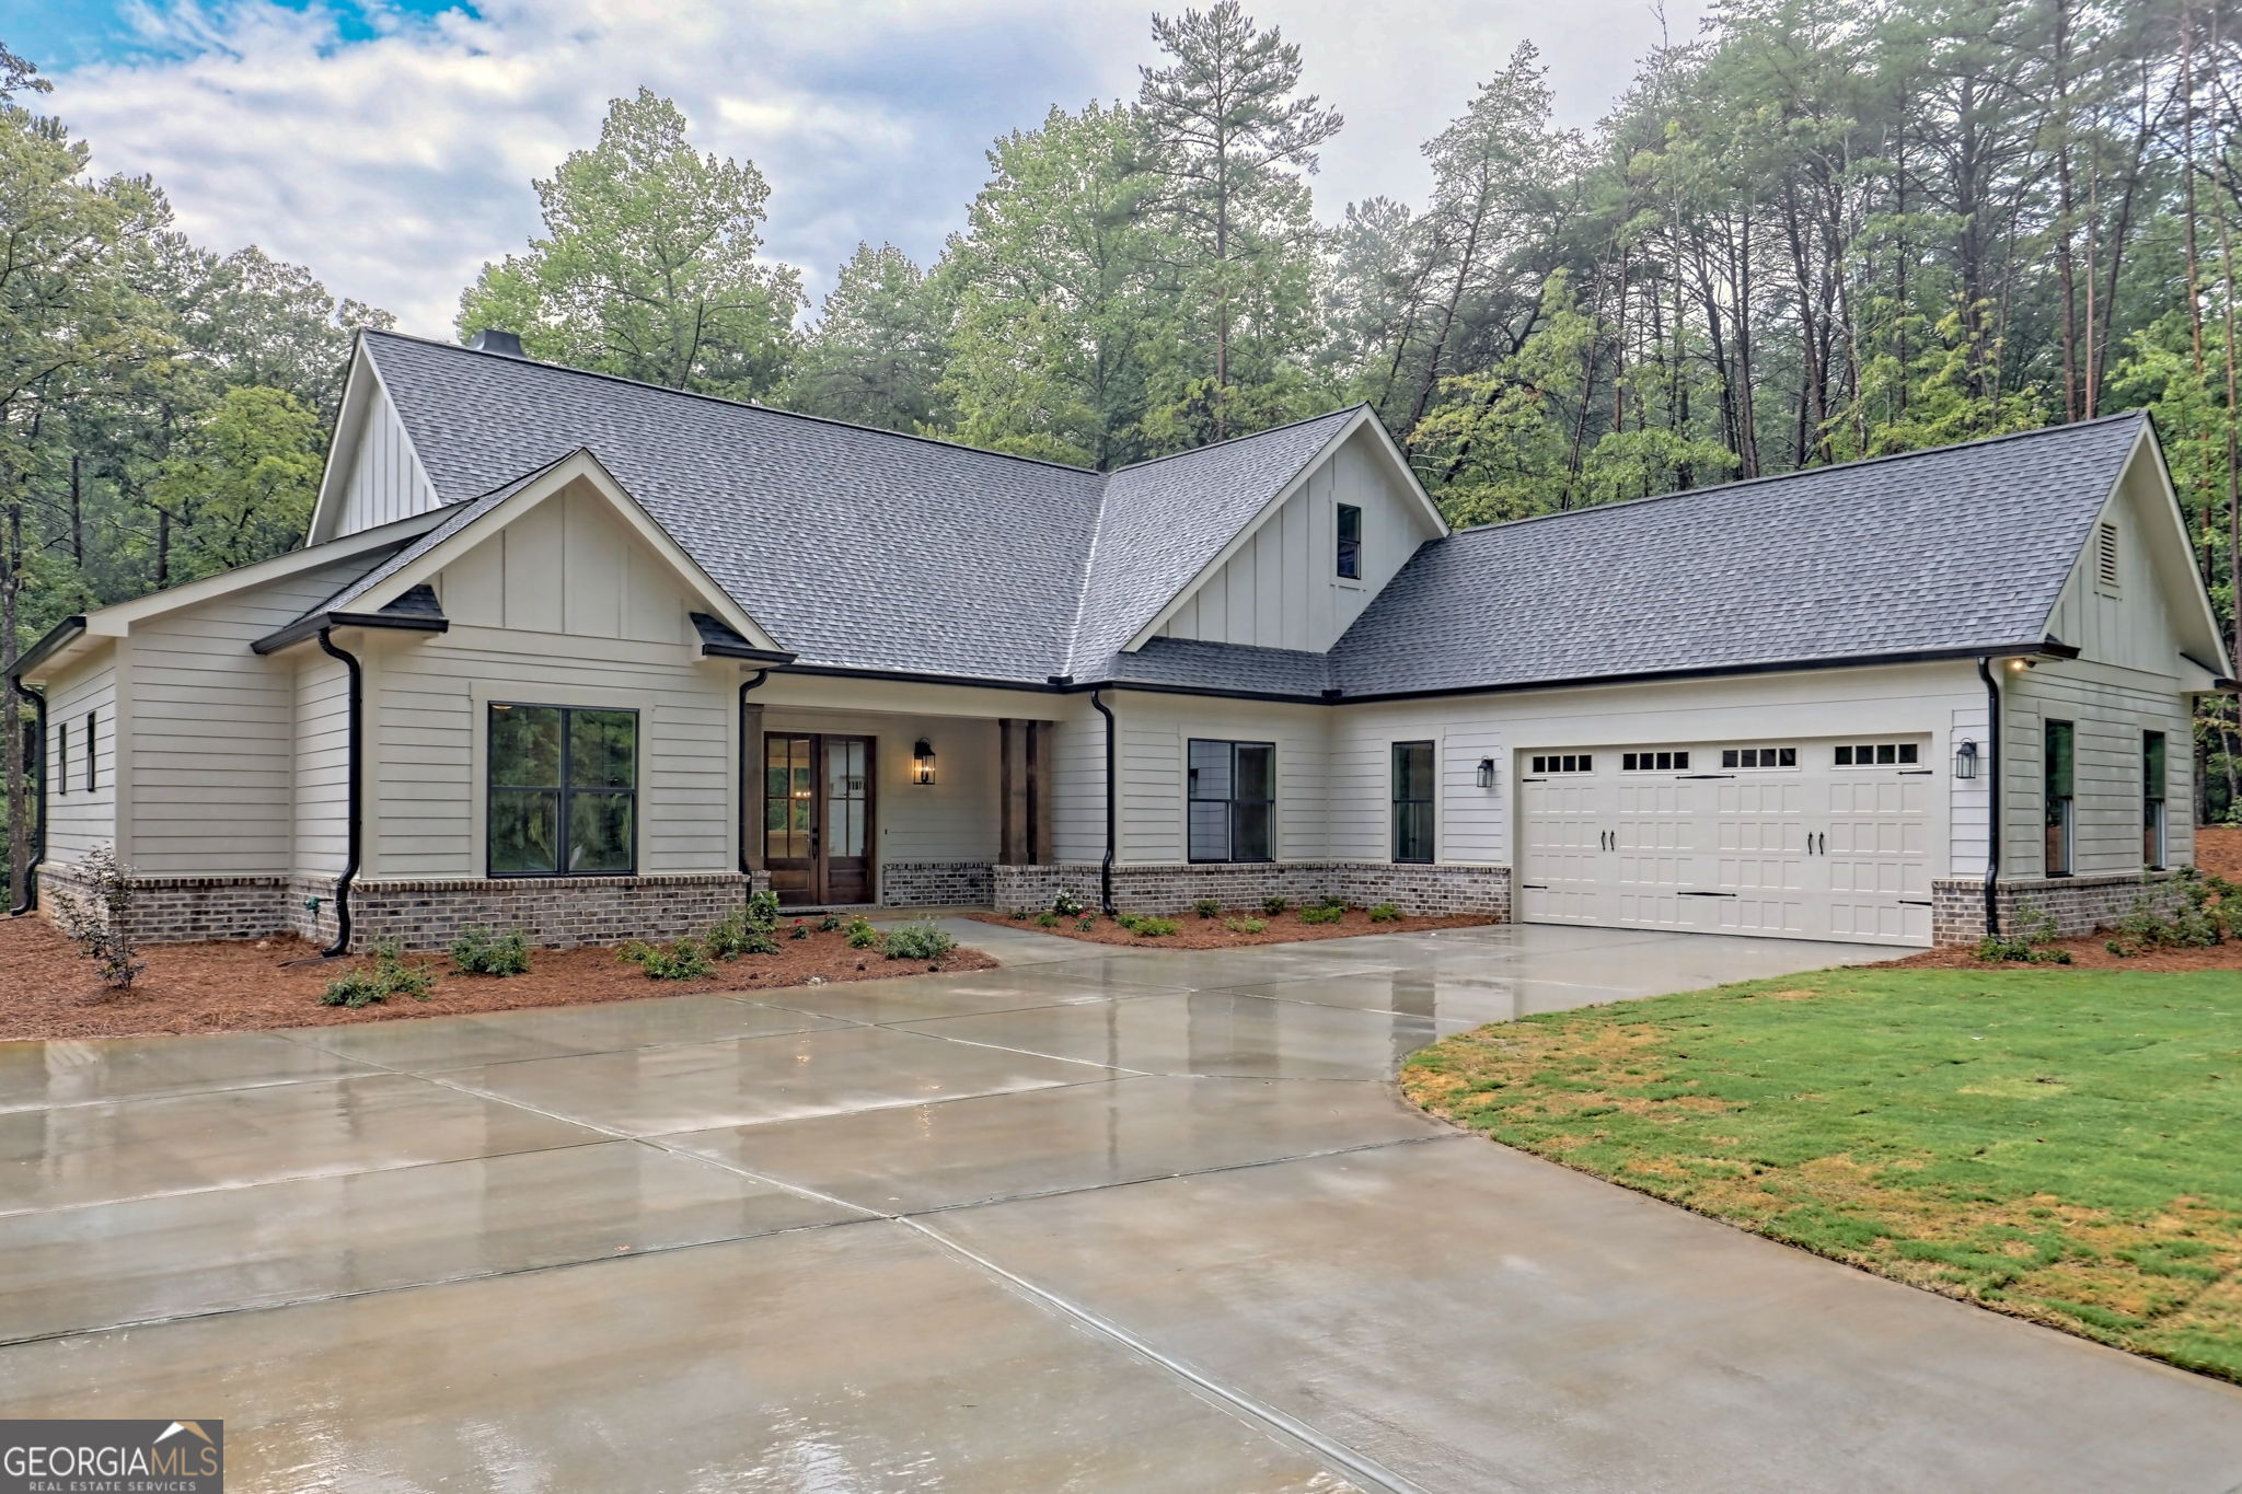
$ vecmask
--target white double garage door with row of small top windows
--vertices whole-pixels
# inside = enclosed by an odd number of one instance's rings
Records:
[[[1518,755],[1522,923],[1930,943],[1930,744]]]

